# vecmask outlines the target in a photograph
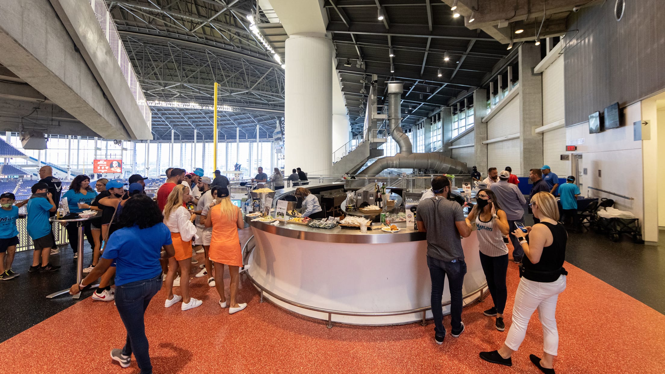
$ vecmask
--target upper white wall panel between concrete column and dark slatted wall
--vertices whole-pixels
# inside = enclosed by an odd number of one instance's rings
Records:
[[[560,56],[543,72],[543,124],[565,117],[563,81],[563,56]]]

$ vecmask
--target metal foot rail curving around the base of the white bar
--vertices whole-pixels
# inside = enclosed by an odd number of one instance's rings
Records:
[[[245,247],[243,248],[243,252],[245,252],[245,255],[243,255],[243,262],[245,262],[245,263],[247,262],[247,258],[249,258],[249,254],[251,254],[251,252],[253,252],[254,248],[256,247],[256,244],[255,244],[254,247],[251,248],[251,250],[247,249],[247,244],[249,244],[249,242],[253,238],[254,238],[254,236],[252,235],[249,238],[249,240],[247,240],[247,243],[245,243]],[[422,312],[421,324],[425,325],[425,320],[426,320],[425,313],[428,310],[432,309],[431,305],[427,306],[427,307],[418,307],[416,309],[400,310],[400,311],[382,311],[382,312],[342,311],[342,310],[335,310],[335,309],[326,309],[326,308],[315,307],[315,306],[312,306],[312,305],[299,303],[297,301],[293,301],[293,300],[287,299],[285,297],[282,297],[280,295],[277,295],[277,294],[273,293],[272,291],[270,291],[269,289],[263,287],[263,285],[260,285],[256,280],[254,280],[254,278],[251,275],[247,274],[247,272],[245,272],[245,275],[247,275],[247,278],[249,278],[249,280],[256,287],[258,287],[261,290],[261,298],[259,299],[259,302],[261,302],[261,303],[263,302],[263,293],[267,293],[271,297],[275,297],[275,299],[278,299],[279,301],[282,301],[282,302],[287,303],[289,305],[293,305],[293,306],[296,306],[296,307],[301,307],[303,309],[307,309],[307,310],[311,310],[311,311],[318,311],[320,313],[327,313],[328,314],[328,325],[327,325],[327,327],[329,329],[332,328],[332,315],[333,314],[334,315],[350,315],[350,316],[353,316],[353,317],[390,317],[391,315],[415,314],[415,313]],[[480,287],[478,287],[477,289],[474,289],[473,291],[467,293],[466,295],[462,295],[462,299],[464,300],[467,297],[471,297],[471,296],[475,295],[476,293],[480,293],[479,299],[481,301],[484,301],[484,299],[485,299],[485,291],[484,291],[485,287],[487,287],[487,282],[483,283]],[[450,302],[451,301],[446,301],[444,303],[441,303],[441,306],[442,307],[448,306],[448,305],[450,305]],[[277,304],[275,304],[275,305],[277,305]],[[464,306],[467,306],[467,305],[470,305],[470,303],[468,303]],[[342,323],[342,322],[340,322],[340,323]],[[342,323],[342,324],[344,324],[344,323]]]

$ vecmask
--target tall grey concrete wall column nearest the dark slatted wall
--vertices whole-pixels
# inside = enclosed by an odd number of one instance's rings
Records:
[[[543,166],[543,136],[535,129],[543,126],[543,82],[533,68],[541,61],[540,47],[531,43],[519,46],[519,141],[521,174]]]

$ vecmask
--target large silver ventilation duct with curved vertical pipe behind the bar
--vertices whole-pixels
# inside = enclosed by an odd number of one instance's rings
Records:
[[[426,169],[441,174],[466,174],[469,172],[466,163],[446,157],[439,152],[413,153],[411,140],[402,131],[400,108],[404,83],[388,82],[388,123],[390,135],[400,146],[395,156],[382,157],[361,170],[361,175],[376,175],[388,168],[395,169]]]

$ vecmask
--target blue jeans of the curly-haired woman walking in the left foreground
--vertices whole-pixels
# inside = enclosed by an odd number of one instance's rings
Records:
[[[150,280],[132,281],[116,287],[116,307],[127,329],[127,341],[122,348],[122,354],[131,356],[134,353],[141,374],[152,373],[143,316],[150,299],[160,288],[162,288],[161,272]]]

